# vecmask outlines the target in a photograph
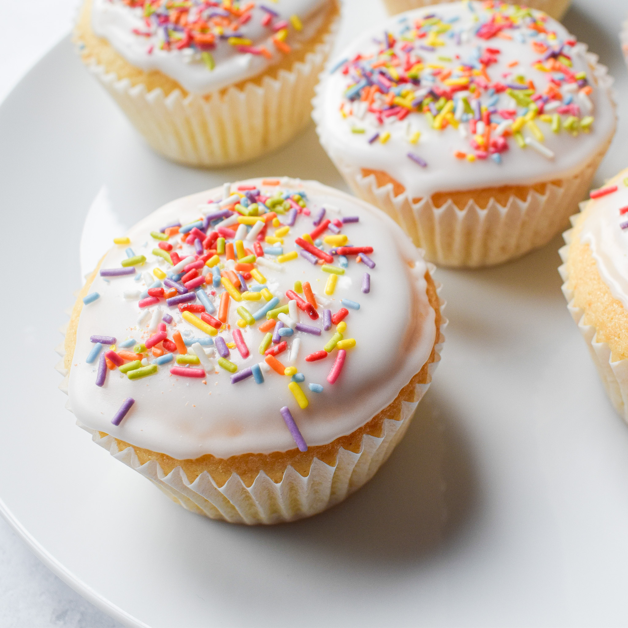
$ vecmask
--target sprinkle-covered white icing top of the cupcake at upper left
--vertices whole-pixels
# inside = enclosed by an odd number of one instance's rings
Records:
[[[254,77],[313,37],[329,0],[91,0],[92,29],[127,62],[192,94]]]

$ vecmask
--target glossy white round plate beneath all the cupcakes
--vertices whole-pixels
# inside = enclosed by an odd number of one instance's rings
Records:
[[[568,27],[602,54],[625,111],[622,0]],[[342,40],[381,16],[350,3]],[[626,165],[628,127],[597,183]],[[106,185],[131,225],[257,175],[344,187],[313,129],[241,168],[144,146],[64,41],[0,109],[4,359],[0,509],[41,560],[126,625],[626,625],[628,427],[613,413],[556,272],[560,239],[516,263],[440,271],[451,320],[436,381],[364,489],[320,516],[244,528],[190,514],[74,425],[53,370],[87,208]]]

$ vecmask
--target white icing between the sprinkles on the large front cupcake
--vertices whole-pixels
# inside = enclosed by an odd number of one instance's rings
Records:
[[[305,382],[300,386],[310,402],[306,409],[299,408],[288,389],[290,377],[280,376],[274,371],[264,373],[263,384],[256,384],[252,377],[231,384],[230,373],[216,366],[215,372],[207,372],[205,384],[200,379],[171,376],[173,363],[170,363],[158,367],[156,374],[136,381],[129,381],[117,370],[108,371],[105,385],[98,387],[95,385],[97,362],[85,363],[92,348],[90,336],[111,335],[118,342],[133,337],[143,342],[149,337],[150,322],[150,317],[147,317],[138,328],[138,301],[124,298],[125,291],[144,290],[143,280],[136,281],[131,275],[107,281],[98,275],[90,292],[98,292],[100,298],[85,305],[82,310],[70,371],[70,405],[81,423],[137,447],[163,452],[178,459],[197,458],[207,453],[227,458],[243,453],[286,451],[293,449],[295,443],[279,413],[281,407],[291,409],[309,446],[324,445],[352,433],[371,420],[420,371],[430,357],[436,329],[435,311],[426,295],[426,264],[418,249],[393,220],[371,205],[315,181],[283,181],[284,188],[305,190],[308,208],[313,215],[324,203],[331,203],[340,210],[338,217],[359,216],[359,222],[347,223],[342,228],[342,233],[349,236],[348,246],[374,247],[369,257],[376,262],[375,268],[369,269],[365,264],[357,263],[355,256],[350,256],[349,267],[344,276],[338,278],[335,293],[327,297],[330,303],[326,307],[332,313],[341,307],[342,298],[360,303],[360,309],[349,310],[345,318],[347,330],[344,337],[355,338],[357,344],[347,350],[338,381],[333,385],[327,382],[335,352],[327,359],[305,362],[306,355],[321,350],[332,337],[335,332],[335,325],[332,325],[320,336],[295,332],[295,335],[284,338],[288,341],[288,351],[295,338],[301,340],[295,366],[305,375]],[[259,186],[261,180],[246,183]],[[131,239],[130,246],[136,255],[143,254],[147,258],[146,264],[136,267],[136,271],[151,272],[156,266],[167,270],[168,265],[151,254],[156,241],[149,236],[149,232],[176,220],[187,224],[198,219],[199,203],[220,198],[221,193],[222,188],[217,188],[168,203],[133,227],[127,234]],[[332,210],[328,210],[327,217],[335,217]],[[312,218],[300,215],[295,227],[284,238],[284,252],[300,250],[295,246],[294,239],[312,229]],[[269,233],[272,232],[273,229],[269,228]],[[330,232],[327,231],[327,234]],[[325,248],[328,249],[327,246]],[[126,258],[125,249],[126,246],[111,249],[101,268],[120,268],[121,261]],[[183,251],[179,252],[183,256],[187,251],[192,251],[192,247],[184,245]],[[335,263],[337,261],[335,257]],[[285,291],[293,289],[296,280],[310,281],[315,294],[325,296],[328,274],[320,268],[301,256],[281,264],[281,271],[259,266],[269,288],[281,296],[281,305],[287,303]],[[361,291],[365,271],[371,274],[371,291],[368,294]],[[256,281],[251,279],[249,289],[255,284]],[[207,288],[209,290],[211,288]],[[222,287],[216,290],[220,293]],[[214,301],[218,307],[219,295]],[[242,303],[254,312],[266,301]],[[227,342],[232,340],[231,331],[238,328],[236,321],[240,317],[236,307],[242,303],[233,300],[230,303],[231,329],[220,332]],[[159,306],[168,311],[165,301],[162,300]],[[318,313],[322,314],[322,311],[323,306],[319,302]],[[170,308],[170,314],[175,318],[176,325],[168,325],[169,338],[176,330],[184,338],[188,332],[193,337],[206,337],[181,320],[176,307]],[[237,364],[239,371],[263,360],[259,345],[264,333],[258,327],[265,320],[266,317],[253,327],[242,329],[251,352],[248,359],[242,359],[236,349],[231,350],[229,359]],[[322,328],[321,318],[310,320],[303,312],[300,312],[300,322]],[[284,365],[290,365],[288,352],[279,354],[278,359]],[[308,388],[310,382],[322,384],[323,392],[311,392]],[[128,397],[134,398],[136,403],[121,425],[116,427],[111,419]]]

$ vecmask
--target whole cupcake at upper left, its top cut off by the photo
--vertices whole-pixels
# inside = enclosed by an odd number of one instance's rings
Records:
[[[308,123],[338,15],[338,0],[84,0],[75,41],[152,148],[225,166]]]

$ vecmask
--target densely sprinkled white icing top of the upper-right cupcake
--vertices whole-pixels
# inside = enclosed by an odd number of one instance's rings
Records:
[[[315,116],[335,160],[385,171],[414,198],[575,173],[614,133],[609,84],[546,14],[456,2],[354,41]]]

